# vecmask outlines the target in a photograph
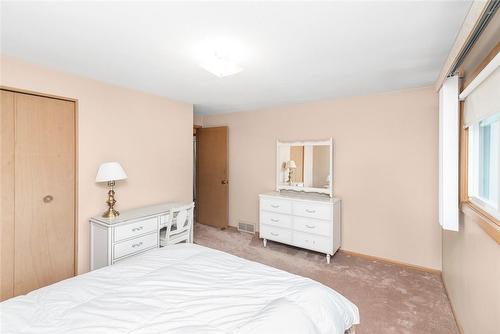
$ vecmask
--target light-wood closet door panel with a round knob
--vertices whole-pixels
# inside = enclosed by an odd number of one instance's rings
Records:
[[[75,274],[75,104],[15,94],[14,294]]]

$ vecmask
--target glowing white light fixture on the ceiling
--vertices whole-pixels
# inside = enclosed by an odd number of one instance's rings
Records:
[[[217,38],[200,43],[195,50],[198,64],[219,78],[243,71],[240,66],[247,55],[244,47],[228,39]]]

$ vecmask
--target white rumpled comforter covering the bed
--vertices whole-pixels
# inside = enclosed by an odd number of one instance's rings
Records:
[[[7,300],[0,322],[2,334],[343,334],[359,314],[313,280],[180,244]]]

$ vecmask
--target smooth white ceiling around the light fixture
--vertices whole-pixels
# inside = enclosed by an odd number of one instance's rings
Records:
[[[212,114],[433,84],[471,3],[2,2],[1,52]],[[193,48],[248,49],[218,78]]]

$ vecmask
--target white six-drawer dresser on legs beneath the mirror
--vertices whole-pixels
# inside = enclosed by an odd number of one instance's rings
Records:
[[[270,192],[259,195],[260,237],[330,256],[340,247],[338,198],[312,193]]]

